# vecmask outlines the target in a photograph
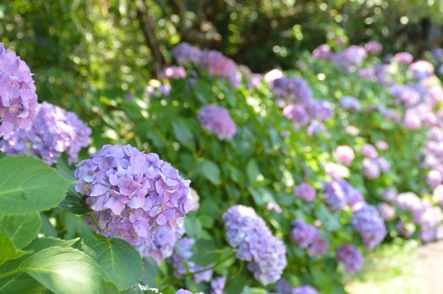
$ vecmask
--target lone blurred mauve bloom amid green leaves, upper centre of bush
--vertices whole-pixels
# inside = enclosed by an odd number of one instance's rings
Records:
[[[203,128],[214,132],[218,139],[231,139],[237,132],[237,126],[229,111],[214,104],[203,106],[198,112],[197,119]]]

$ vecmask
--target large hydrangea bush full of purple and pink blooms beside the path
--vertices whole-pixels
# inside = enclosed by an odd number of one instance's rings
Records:
[[[27,266],[56,256],[85,262],[97,293],[344,293],[382,242],[442,238],[443,55],[382,50],[323,44],[255,74],[179,43],[160,80],[85,104],[89,128],[37,104],[1,45],[0,178],[29,180],[2,184],[16,205],[0,205],[0,289],[22,272],[64,293],[56,263]],[[29,242],[3,225],[20,221]]]

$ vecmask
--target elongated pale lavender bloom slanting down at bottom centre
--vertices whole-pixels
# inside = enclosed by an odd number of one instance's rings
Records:
[[[248,269],[263,285],[280,279],[287,265],[286,247],[252,207],[233,205],[223,213],[226,240],[237,248],[238,259],[248,261]]]

